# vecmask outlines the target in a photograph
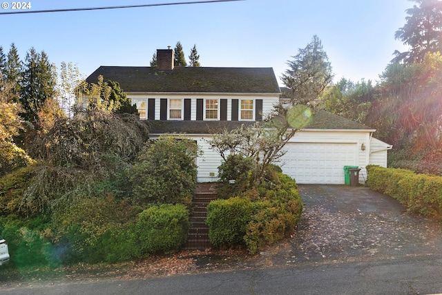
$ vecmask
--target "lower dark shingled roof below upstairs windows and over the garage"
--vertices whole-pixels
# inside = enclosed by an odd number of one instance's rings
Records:
[[[151,121],[150,133],[187,133],[187,134],[211,134],[224,129],[233,130],[242,124],[252,125],[250,121]],[[303,129],[336,129],[336,130],[374,130],[363,124],[347,120],[343,117],[318,111],[314,114],[311,122]]]

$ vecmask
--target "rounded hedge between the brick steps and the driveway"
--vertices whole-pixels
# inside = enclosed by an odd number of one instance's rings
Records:
[[[213,247],[246,246],[257,253],[293,233],[302,202],[296,182],[282,173],[271,189],[251,189],[242,196],[214,200],[207,207],[206,224]]]

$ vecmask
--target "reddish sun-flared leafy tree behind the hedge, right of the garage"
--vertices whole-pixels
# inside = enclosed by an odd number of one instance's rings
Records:
[[[421,64],[390,64],[367,122],[396,146],[441,144],[442,56],[427,53]]]

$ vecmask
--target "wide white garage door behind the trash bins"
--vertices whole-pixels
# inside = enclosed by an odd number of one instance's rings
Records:
[[[297,183],[344,184],[344,166],[356,162],[356,144],[289,143],[282,171]]]

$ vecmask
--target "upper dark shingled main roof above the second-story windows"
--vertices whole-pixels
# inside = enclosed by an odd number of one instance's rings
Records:
[[[119,82],[123,91],[180,93],[280,93],[273,68],[100,66],[86,79]]]

